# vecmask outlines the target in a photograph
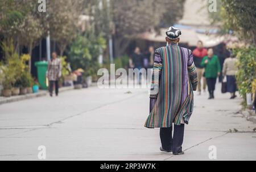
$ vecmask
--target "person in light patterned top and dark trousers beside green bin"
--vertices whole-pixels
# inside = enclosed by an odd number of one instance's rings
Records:
[[[61,60],[57,58],[57,53],[52,53],[52,59],[48,62],[47,78],[49,81],[49,94],[52,97],[53,85],[55,94],[59,94],[59,79],[61,77]]]

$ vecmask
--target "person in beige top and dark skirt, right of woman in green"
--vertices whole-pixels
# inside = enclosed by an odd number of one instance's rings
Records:
[[[237,81],[236,81],[236,73],[238,71],[238,67],[236,65],[237,59],[235,55],[230,55],[229,58],[225,59],[222,75],[226,76],[227,83],[227,91],[231,94],[230,99],[236,98],[237,91]]]

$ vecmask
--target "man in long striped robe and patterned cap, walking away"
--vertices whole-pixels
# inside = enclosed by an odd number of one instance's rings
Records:
[[[160,151],[179,155],[184,154],[184,124],[192,115],[197,74],[192,51],[178,45],[180,29],[170,27],[166,35],[168,45],[155,51],[150,115],[145,127],[160,128]]]

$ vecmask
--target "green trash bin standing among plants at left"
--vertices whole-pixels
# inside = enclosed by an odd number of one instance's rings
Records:
[[[38,83],[40,85],[40,89],[47,90],[48,88],[46,84],[46,72],[48,68],[48,62],[36,62],[35,66],[38,69]]]

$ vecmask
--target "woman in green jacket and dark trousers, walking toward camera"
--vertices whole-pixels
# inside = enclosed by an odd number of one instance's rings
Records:
[[[207,86],[209,91],[209,99],[214,99],[214,90],[217,77],[220,76],[221,66],[217,55],[213,54],[213,49],[208,50],[208,55],[203,58],[201,66],[205,68],[205,78],[207,79]]]

